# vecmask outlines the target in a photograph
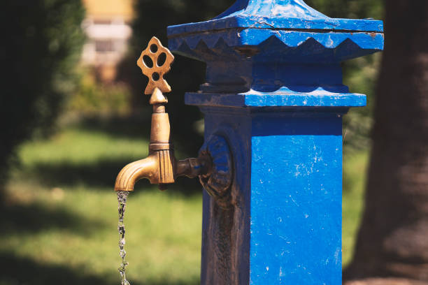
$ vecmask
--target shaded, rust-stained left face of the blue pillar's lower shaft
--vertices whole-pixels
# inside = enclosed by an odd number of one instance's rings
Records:
[[[233,207],[221,207],[204,192],[201,284],[248,284],[250,271],[250,130],[248,112],[212,108],[205,114],[205,137],[229,142],[233,161],[230,188]]]

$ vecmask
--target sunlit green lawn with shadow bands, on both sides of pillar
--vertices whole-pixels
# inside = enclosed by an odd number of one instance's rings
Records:
[[[1,210],[0,284],[118,284],[114,177],[148,142],[66,129],[19,152]],[[345,156],[344,261],[352,256],[367,155]],[[125,224],[131,284],[198,284],[201,191],[138,182]]]

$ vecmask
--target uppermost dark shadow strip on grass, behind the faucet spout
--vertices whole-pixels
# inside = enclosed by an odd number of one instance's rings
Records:
[[[134,159],[104,159],[94,163],[36,163],[31,169],[22,170],[23,177],[31,177],[47,187],[73,187],[85,185],[88,190],[97,187],[109,187],[113,191],[117,174]],[[136,184],[139,189],[152,189],[148,180]],[[197,179],[180,177],[174,187],[180,193],[191,195],[201,191]]]

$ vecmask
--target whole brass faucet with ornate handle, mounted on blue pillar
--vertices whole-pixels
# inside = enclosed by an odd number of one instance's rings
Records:
[[[163,63],[159,57],[164,57]],[[149,78],[144,93],[151,94],[149,103],[153,106],[149,156],[122,168],[116,178],[115,191],[133,191],[134,184],[143,178],[150,180],[151,184],[159,184],[159,189],[164,190],[167,184],[174,183],[179,176],[199,176],[201,181],[208,181],[211,175],[213,160],[208,152],[201,151],[199,157],[194,159],[176,160],[174,156],[169,116],[165,112],[168,100],[162,93],[171,92],[163,76],[171,69],[173,60],[173,54],[155,37],[137,60],[137,65]]]

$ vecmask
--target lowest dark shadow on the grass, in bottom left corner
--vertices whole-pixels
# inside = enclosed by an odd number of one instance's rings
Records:
[[[0,253],[0,285],[117,285],[120,284],[119,276],[112,275],[100,277],[87,275],[78,269],[67,268],[64,265],[43,264],[29,258],[22,258],[14,254]],[[197,285],[184,282],[150,282],[136,283],[132,285]]]

